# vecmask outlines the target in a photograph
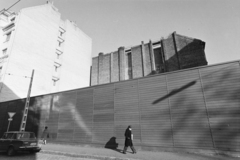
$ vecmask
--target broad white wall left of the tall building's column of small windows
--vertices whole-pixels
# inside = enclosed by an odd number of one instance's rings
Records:
[[[6,72],[13,75],[31,76],[35,69],[31,96],[46,94],[51,90],[55,45],[60,14],[50,5],[22,9],[16,24],[16,33],[11,36],[8,48],[9,62]],[[17,80],[16,80],[17,79]],[[19,98],[27,96],[29,78],[6,76],[4,85]],[[11,92],[4,93],[2,101],[14,99]]]

